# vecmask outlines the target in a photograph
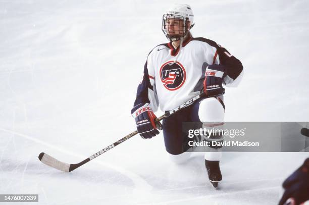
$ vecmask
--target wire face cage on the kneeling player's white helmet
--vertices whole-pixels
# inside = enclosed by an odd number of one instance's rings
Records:
[[[169,39],[170,41],[180,40],[180,38],[186,36],[188,32],[188,21],[188,18],[180,15],[164,14],[162,19],[162,31],[167,37],[167,39]],[[178,25],[176,25],[175,23]],[[169,33],[169,26],[174,26],[174,33]]]

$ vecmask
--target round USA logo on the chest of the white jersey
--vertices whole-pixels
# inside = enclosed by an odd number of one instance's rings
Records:
[[[161,66],[160,78],[166,89],[177,90],[186,80],[186,71],[178,61],[172,65],[171,63],[173,61],[168,61]]]

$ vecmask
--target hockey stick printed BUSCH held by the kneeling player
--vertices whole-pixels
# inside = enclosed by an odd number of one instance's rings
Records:
[[[156,122],[158,121],[161,121],[171,115],[173,115],[174,113],[180,111],[181,109],[191,105],[194,103],[194,101],[196,101],[197,99],[201,98],[201,97],[204,97],[205,96],[205,93],[202,92],[200,93],[199,95],[189,99],[188,101],[186,101],[184,104],[178,106],[177,108],[171,110],[171,111],[168,111],[166,112],[164,115],[162,115],[161,117],[157,118],[156,119]],[[64,162],[61,162],[49,155],[47,155],[46,153],[44,152],[41,152],[38,156],[39,160],[44,163],[45,165],[48,165],[49,167],[53,167],[55,169],[58,169],[58,170],[61,170],[61,171],[64,171],[64,172],[71,172],[73,170],[75,170],[76,168],[79,168],[80,166],[86,164],[87,162],[89,162],[90,160],[93,160],[94,158],[100,156],[102,153],[105,153],[107,152],[108,150],[114,148],[115,146],[117,146],[118,144],[121,144],[122,142],[126,141],[127,139],[133,137],[134,135],[136,135],[138,132],[137,130],[128,134],[127,136],[121,138],[120,140],[118,140],[117,142],[114,142],[113,144],[101,149],[100,151],[94,153],[93,155],[91,155],[89,158],[85,159],[84,161],[80,162],[80,163],[77,163],[77,164],[68,164],[68,163],[64,163]]]

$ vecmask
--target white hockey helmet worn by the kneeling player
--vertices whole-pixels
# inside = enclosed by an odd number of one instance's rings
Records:
[[[193,11],[191,7],[187,4],[177,4],[174,7],[168,9],[163,15],[162,19],[162,31],[164,35],[170,41],[180,40],[181,37],[185,37],[189,32],[189,30],[194,26],[193,17],[194,17]],[[170,19],[182,20],[183,25],[180,25],[180,29],[182,29],[181,32],[179,32],[180,34],[173,34],[173,35],[169,34],[168,20]]]

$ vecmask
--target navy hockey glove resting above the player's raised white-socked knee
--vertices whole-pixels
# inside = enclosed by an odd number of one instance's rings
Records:
[[[225,89],[222,87],[223,79],[227,73],[226,66],[223,65],[209,65],[205,69],[205,80],[203,82],[202,92],[208,97],[222,95]]]

